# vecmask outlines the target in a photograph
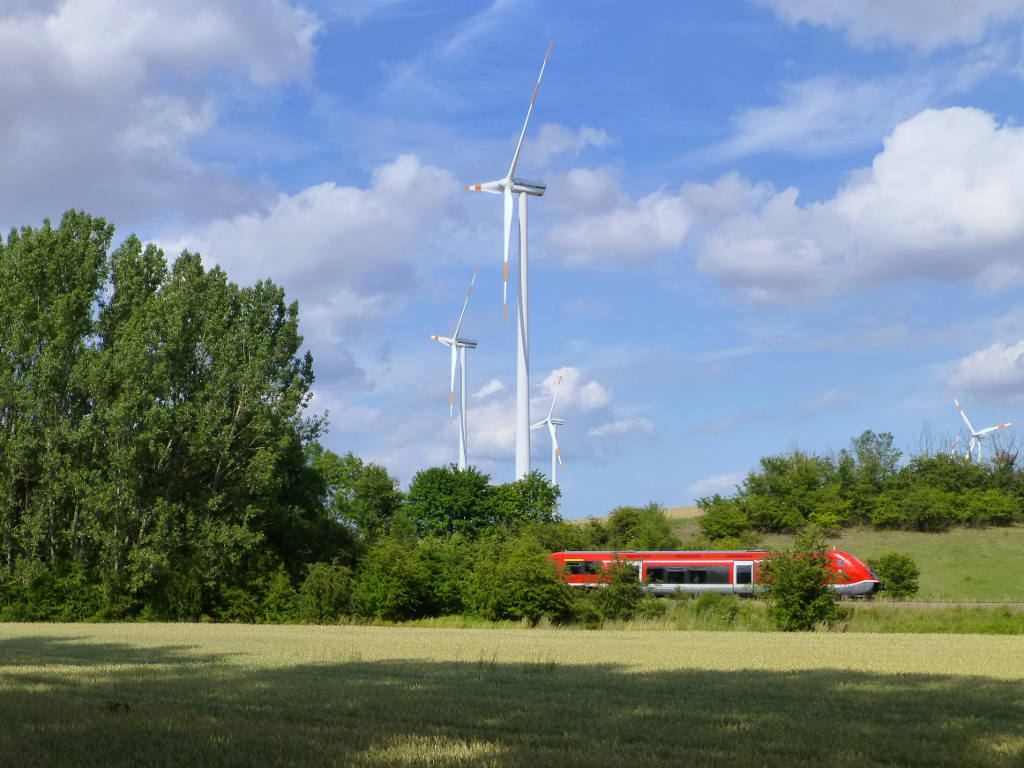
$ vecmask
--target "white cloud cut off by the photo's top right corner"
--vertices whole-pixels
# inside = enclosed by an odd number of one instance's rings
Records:
[[[842,30],[854,45],[911,45],[931,51],[973,45],[997,25],[1024,17],[1024,0],[755,0],[791,24]]]

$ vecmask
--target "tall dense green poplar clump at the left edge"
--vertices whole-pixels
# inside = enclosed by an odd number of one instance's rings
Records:
[[[195,616],[340,542],[307,493],[312,359],[283,289],[112,239],[72,211],[0,243],[0,580]]]

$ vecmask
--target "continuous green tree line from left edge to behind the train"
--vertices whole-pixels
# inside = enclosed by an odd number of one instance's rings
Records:
[[[79,211],[0,240],[0,620],[566,617],[547,553],[675,544],[656,506],[563,522],[540,473],[402,493],[321,444],[281,287],[113,243]]]

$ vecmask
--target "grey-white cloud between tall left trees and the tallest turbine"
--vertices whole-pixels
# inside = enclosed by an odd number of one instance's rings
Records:
[[[272,275],[299,300],[306,342],[330,372],[339,344],[403,306],[458,188],[449,171],[406,155],[377,168],[366,188],[316,184],[160,242],[170,253],[199,251],[240,284]]]

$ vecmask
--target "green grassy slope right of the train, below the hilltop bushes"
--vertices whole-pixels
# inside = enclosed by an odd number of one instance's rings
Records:
[[[784,547],[792,539],[768,536],[764,542]],[[1024,601],[1024,525],[944,534],[851,528],[829,544],[865,560],[890,550],[909,552],[921,568],[921,600]]]

